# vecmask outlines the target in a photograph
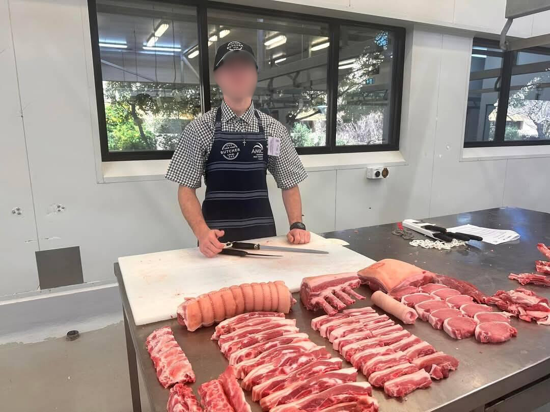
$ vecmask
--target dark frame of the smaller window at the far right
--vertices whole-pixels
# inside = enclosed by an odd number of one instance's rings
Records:
[[[472,51],[473,47],[487,47],[487,48],[499,48],[499,43],[496,40],[487,40],[484,38],[474,38],[472,42]],[[530,51],[536,52],[540,51],[544,54],[548,54],[548,48],[537,48],[533,47],[528,49]],[[497,105],[497,116],[495,122],[494,130],[494,140],[492,141],[478,141],[478,142],[466,142],[466,129],[464,129],[464,147],[507,147],[507,146],[541,146],[550,144],[550,139],[541,139],[541,140],[504,140],[504,133],[506,131],[506,118],[508,114],[508,101],[510,98],[510,83],[511,76],[513,75],[512,69],[516,62],[516,55],[518,51],[503,51],[502,57],[502,67],[499,77],[499,87],[498,91],[498,105]],[[470,81],[470,80],[469,80]]]

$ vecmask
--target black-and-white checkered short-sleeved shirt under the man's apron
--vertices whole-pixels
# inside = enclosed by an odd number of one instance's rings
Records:
[[[223,131],[259,131],[254,115],[254,103],[241,116],[235,115],[224,101],[221,107]],[[286,127],[265,113],[259,114],[266,138],[281,138],[281,154],[268,158],[267,170],[275,178],[277,187],[290,189],[303,181],[307,173],[290,141]],[[215,116],[216,109],[212,109],[185,127],[164,176],[166,179],[190,188],[201,187],[201,176],[205,174],[206,161],[214,141]]]

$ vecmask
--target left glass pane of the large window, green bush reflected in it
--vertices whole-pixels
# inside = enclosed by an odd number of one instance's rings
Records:
[[[109,151],[174,149],[200,114],[193,7],[97,1]]]

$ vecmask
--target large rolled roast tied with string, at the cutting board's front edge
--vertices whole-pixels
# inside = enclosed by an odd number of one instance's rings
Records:
[[[243,283],[185,298],[178,307],[178,323],[193,332],[245,312],[289,313],[295,302],[283,281]]]

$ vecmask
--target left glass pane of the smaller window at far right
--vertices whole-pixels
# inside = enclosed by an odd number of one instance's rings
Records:
[[[466,107],[466,142],[494,140],[501,67],[502,51],[474,45]]]

